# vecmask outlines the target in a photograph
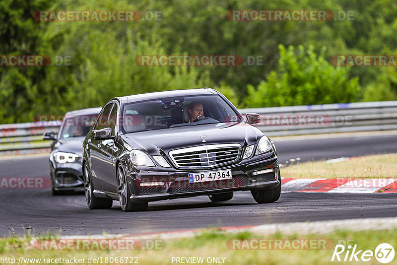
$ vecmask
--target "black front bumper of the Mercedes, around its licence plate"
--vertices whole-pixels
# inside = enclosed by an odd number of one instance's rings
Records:
[[[231,169],[232,179],[210,182],[189,183],[189,173]],[[271,173],[253,175],[253,172],[273,169]],[[177,172],[147,172],[139,174],[127,173],[133,202],[146,202],[164,199],[178,199],[201,195],[212,195],[233,191],[249,191],[255,189],[272,189],[280,184],[277,157],[271,155],[263,160],[249,160],[233,166],[225,166],[211,170],[190,170]],[[144,183],[160,183],[156,186],[142,186]]]

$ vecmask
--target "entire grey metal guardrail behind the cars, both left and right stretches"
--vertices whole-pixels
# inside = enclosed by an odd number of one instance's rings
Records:
[[[397,101],[240,109],[258,113],[257,127],[268,136],[397,130]],[[0,125],[0,155],[49,152],[43,133],[61,122]]]

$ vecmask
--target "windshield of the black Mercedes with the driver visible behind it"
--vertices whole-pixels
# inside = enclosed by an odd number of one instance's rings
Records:
[[[214,123],[240,122],[237,113],[219,95],[159,98],[124,105],[124,133]]]

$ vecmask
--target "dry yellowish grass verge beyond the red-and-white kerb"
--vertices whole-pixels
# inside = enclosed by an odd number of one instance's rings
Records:
[[[281,169],[284,178],[379,179],[397,177],[397,154],[353,157],[347,161],[295,163]]]

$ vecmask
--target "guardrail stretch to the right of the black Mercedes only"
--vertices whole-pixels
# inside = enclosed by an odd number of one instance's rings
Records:
[[[258,113],[268,136],[397,129],[397,101],[241,109]],[[317,123],[318,122],[318,123]]]

